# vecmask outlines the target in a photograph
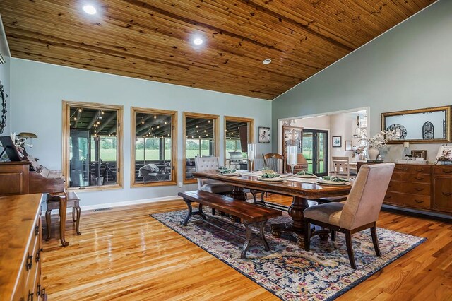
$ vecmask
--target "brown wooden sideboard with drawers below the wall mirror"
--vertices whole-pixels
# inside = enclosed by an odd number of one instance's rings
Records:
[[[383,204],[452,217],[452,166],[397,163]]]

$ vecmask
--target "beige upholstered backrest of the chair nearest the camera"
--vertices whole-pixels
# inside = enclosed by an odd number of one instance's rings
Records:
[[[375,165],[362,165],[352,190],[348,195],[339,226],[345,229],[355,229],[379,218],[389,181],[396,165],[382,163]]]

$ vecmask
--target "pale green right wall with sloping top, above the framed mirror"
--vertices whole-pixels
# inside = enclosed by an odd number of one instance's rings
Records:
[[[272,102],[278,119],[370,107],[382,112],[452,105],[452,1],[441,0]],[[273,150],[278,146],[273,131]],[[436,150],[435,146],[417,146]],[[436,154],[436,153],[435,153]]]

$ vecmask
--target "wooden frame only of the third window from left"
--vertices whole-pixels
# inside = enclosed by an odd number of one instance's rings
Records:
[[[213,119],[213,141],[215,146],[213,148],[213,156],[220,157],[220,116],[213,114],[201,114],[201,113],[193,113],[193,112],[182,112],[182,120],[183,120],[183,129],[182,133],[184,136],[182,137],[182,163],[184,167],[182,168],[182,181],[184,184],[193,184],[198,182],[197,179],[186,179],[186,117],[189,118],[203,118],[203,119]]]

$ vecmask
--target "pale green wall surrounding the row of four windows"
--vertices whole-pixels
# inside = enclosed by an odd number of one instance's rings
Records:
[[[223,116],[254,118],[255,139],[258,126],[270,126],[271,103],[227,93],[187,88],[124,76],[42,64],[23,59],[11,59],[11,130],[32,131],[29,151],[40,163],[61,169],[61,100],[100,102],[124,105],[124,189],[81,192],[81,206],[118,201],[153,199],[175,196],[178,191],[196,189],[195,184],[130,188],[131,106],[176,110],[178,115],[178,182],[182,182],[182,112],[198,112]],[[220,131],[220,146],[224,131]],[[269,153],[269,144],[258,144],[259,153]],[[221,153],[221,157],[224,154]]]

